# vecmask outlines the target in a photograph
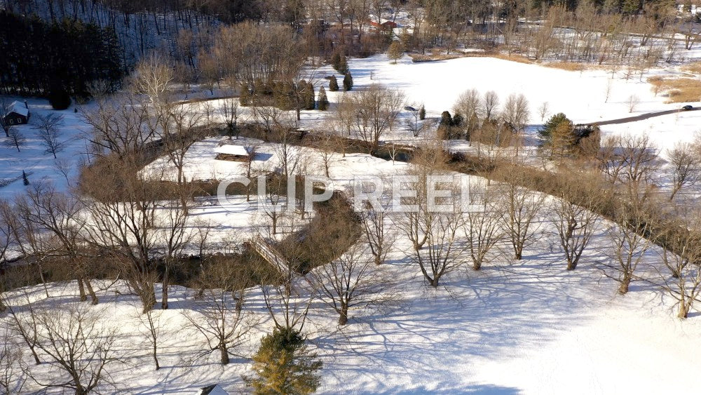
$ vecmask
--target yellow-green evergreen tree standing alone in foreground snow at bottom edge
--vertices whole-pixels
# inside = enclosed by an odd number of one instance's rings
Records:
[[[294,328],[275,328],[253,356],[255,377],[245,380],[254,394],[311,394],[319,386],[322,363],[306,349]]]

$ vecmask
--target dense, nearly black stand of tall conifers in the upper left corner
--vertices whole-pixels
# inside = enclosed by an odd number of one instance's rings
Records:
[[[124,75],[120,53],[109,28],[0,11],[0,93],[81,97],[97,80],[114,89]]]

